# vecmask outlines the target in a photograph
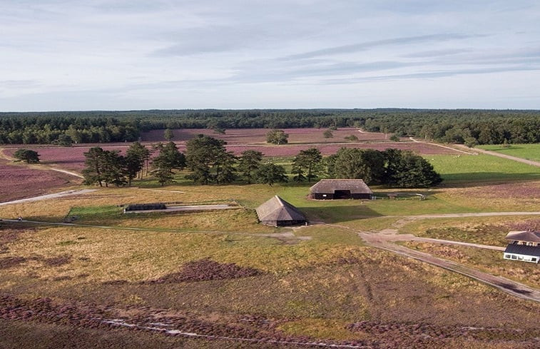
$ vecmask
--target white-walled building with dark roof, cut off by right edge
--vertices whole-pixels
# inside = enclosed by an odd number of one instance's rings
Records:
[[[540,261],[540,231],[511,231],[504,250],[504,259],[538,263]]]

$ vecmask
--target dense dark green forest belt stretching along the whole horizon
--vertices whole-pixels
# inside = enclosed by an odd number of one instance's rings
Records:
[[[540,111],[431,109],[264,109],[0,113],[0,143],[136,141],[164,128],[355,126],[447,143],[540,143]],[[69,139],[68,138],[68,139]]]

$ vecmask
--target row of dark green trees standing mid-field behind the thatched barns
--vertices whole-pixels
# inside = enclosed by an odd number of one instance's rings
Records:
[[[133,143],[126,155],[93,147],[84,153],[84,182],[99,186],[130,186],[134,178],[143,177],[143,168],[151,163],[150,173],[161,186],[173,182],[175,171],[188,169],[185,178],[194,183],[274,183],[312,182],[316,178],[362,178],[368,184],[418,188],[435,186],[442,178],[422,156],[411,151],[387,149],[341,148],[323,158],[317,148],[300,151],[292,161],[290,173],[285,167],[265,160],[260,151],[244,151],[235,156],[225,148],[225,141],[198,135],[186,143],[185,154],[175,143],[159,143],[153,147],[157,155],[141,143]]]

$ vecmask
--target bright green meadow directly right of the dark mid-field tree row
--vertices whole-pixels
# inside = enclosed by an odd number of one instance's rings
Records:
[[[424,156],[435,171],[441,173],[445,184],[484,181],[530,181],[540,179],[540,168],[496,156],[431,155]]]

